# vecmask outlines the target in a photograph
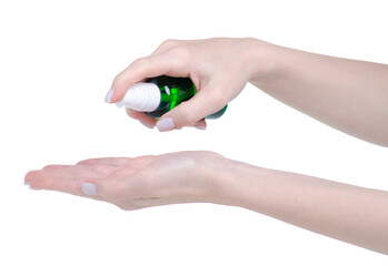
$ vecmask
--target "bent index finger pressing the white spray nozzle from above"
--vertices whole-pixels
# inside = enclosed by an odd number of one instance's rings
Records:
[[[180,52],[155,54],[141,58],[119,73],[112,83],[110,102],[123,98],[128,89],[136,82],[158,75],[188,76],[187,59]]]

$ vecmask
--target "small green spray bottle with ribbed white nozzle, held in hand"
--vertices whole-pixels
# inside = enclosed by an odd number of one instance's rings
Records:
[[[160,75],[133,84],[117,105],[145,112],[151,117],[159,119],[196,93],[196,86],[190,79]],[[208,115],[207,119],[218,119],[225,113],[227,106]]]

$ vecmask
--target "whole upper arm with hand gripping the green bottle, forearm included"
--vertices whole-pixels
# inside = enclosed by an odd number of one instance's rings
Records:
[[[157,126],[160,131],[202,127],[201,119],[221,110],[249,81],[328,125],[388,146],[387,71],[386,64],[315,54],[256,39],[166,41],[116,76],[106,102],[121,100],[129,86],[148,78],[190,78],[198,93],[162,115]],[[368,103],[374,109],[366,108]],[[145,113],[127,112],[147,126],[157,122]]]

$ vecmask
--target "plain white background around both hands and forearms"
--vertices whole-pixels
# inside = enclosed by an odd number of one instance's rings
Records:
[[[171,38],[253,37],[388,63],[385,2],[1,0],[0,265],[387,265],[384,255],[237,207],[123,212],[23,185],[47,164],[210,150],[388,190],[387,149],[251,85],[206,132],[150,131],[103,104],[119,71]]]

